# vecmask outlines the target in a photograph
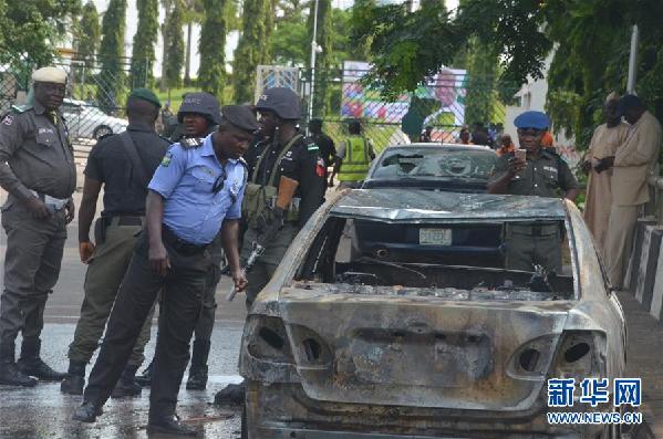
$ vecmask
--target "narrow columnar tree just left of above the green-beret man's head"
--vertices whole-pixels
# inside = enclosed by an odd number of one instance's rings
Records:
[[[102,20],[102,42],[99,50],[101,70],[96,97],[107,112],[117,108],[117,97],[124,87],[124,30],[126,0],[111,0]]]

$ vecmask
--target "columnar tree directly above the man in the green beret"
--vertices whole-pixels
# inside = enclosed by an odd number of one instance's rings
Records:
[[[138,29],[132,48],[131,86],[145,86],[154,81],[152,63],[155,60],[154,44],[158,32],[157,0],[136,0]]]

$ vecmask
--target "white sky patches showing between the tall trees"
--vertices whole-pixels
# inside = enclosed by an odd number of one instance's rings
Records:
[[[96,10],[101,13],[106,10],[108,7],[110,0],[93,0],[96,6]],[[402,0],[386,0],[385,2],[400,2]],[[353,0],[332,0],[334,8],[350,8],[353,3]],[[446,6],[448,9],[455,9],[458,7],[458,0],[446,0]],[[125,31],[125,54],[126,56],[131,56],[132,54],[132,40],[134,34],[136,33],[138,14],[136,12],[136,0],[127,0],[127,20],[126,20],[126,31]],[[159,7],[159,22],[164,20],[164,11]],[[185,38],[186,43],[186,29],[183,29],[183,35]],[[193,39],[191,39],[191,76],[196,77],[199,66],[199,55],[198,55],[198,39],[200,36],[200,27],[194,25]],[[235,52],[235,48],[237,46],[237,40],[239,38],[238,32],[230,32],[226,36],[226,60],[232,60],[232,53]],[[158,35],[158,41],[156,45],[156,62],[154,63],[154,75],[160,76],[162,72],[162,55],[163,55],[163,41],[160,38],[160,32]]]

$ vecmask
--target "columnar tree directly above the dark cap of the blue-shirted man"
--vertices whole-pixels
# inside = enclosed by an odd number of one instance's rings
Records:
[[[261,45],[267,44],[266,35],[266,8],[271,6],[270,0],[245,0],[242,17],[242,32],[235,50],[232,64],[235,101],[252,102],[256,86],[256,67],[263,62],[265,51]]]

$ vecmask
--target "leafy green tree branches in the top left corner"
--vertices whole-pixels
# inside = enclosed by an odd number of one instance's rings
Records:
[[[80,0],[0,0],[0,62],[48,64],[80,12]]]

